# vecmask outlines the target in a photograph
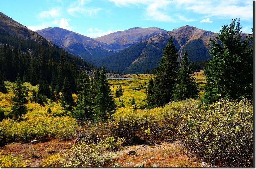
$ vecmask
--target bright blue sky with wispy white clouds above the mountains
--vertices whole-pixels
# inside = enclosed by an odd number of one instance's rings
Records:
[[[61,27],[91,38],[132,27],[189,25],[219,33],[240,18],[252,33],[252,0],[1,0],[0,11],[29,29]]]

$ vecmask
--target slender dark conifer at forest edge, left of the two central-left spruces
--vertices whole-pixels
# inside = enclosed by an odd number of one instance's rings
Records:
[[[68,77],[65,77],[63,81],[61,89],[61,102],[60,105],[65,109],[67,112],[68,110],[72,110],[72,106],[74,104],[74,99],[72,97],[70,82],[68,81]]]

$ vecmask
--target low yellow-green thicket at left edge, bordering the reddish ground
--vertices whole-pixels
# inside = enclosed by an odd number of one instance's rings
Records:
[[[7,142],[30,142],[33,139],[48,141],[58,138],[68,140],[76,136],[76,120],[71,117],[28,117],[27,120],[15,122],[4,119],[0,123]]]

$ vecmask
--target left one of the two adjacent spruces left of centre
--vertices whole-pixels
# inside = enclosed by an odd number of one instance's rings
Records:
[[[81,91],[78,91],[78,100],[76,110],[72,116],[79,120],[92,118],[93,116],[93,101],[92,87],[88,74],[84,71],[82,76]]]

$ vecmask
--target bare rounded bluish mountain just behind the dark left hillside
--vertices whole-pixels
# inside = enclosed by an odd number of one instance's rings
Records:
[[[36,32],[53,44],[88,62],[113,53],[110,45],[66,29],[55,27],[45,28]]]

